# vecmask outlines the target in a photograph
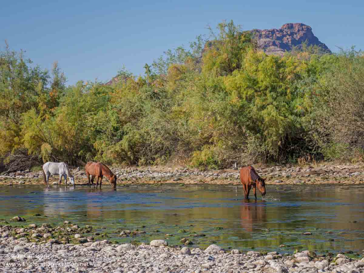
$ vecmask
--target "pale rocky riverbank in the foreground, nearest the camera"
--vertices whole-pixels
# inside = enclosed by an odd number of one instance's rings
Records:
[[[0,226],[0,265],[4,272],[364,272],[364,259],[345,254],[316,255],[311,251],[241,253],[218,245],[205,250],[168,246],[165,240],[150,244],[111,244],[81,234],[92,229],[65,222],[51,227]],[[69,231],[68,231],[69,230]],[[62,232],[70,236],[60,237]],[[79,234],[81,233],[81,234]],[[79,236],[78,236],[78,235]],[[360,260],[361,259],[361,260]]]

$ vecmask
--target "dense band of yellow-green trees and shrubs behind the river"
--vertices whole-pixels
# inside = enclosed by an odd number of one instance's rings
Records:
[[[223,22],[212,40],[199,36],[189,50],[145,64],[145,76],[123,69],[112,86],[69,87],[57,63],[51,72],[30,68],[7,48],[0,55],[0,156],[27,149],[71,164],[174,161],[216,169],[360,154],[361,52],[302,48],[268,56],[249,32]]]

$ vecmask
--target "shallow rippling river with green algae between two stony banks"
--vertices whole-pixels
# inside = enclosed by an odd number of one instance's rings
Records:
[[[167,236],[171,245],[190,238],[191,247],[361,252],[363,190],[352,185],[267,185],[267,200],[257,193],[257,201],[246,201],[240,186],[119,186],[114,190],[107,185],[102,191],[88,186],[1,187],[0,218],[8,221],[19,215],[27,220],[25,224],[54,225],[70,220],[91,225],[118,242],[149,242],[172,234]],[[135,229],[147,233],[119,237],[121,230]],[[193,237],[198,234],[205,236]]]

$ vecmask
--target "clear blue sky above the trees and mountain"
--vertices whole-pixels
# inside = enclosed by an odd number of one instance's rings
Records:
[[[68,84],[111,79],[123,65],[139,75],[167,49],[187,46],[206,25],[243,29],[304,23],[332,51],[364,49],[364,1],[7,1],[1,38],[43,68],[58,61]],[[5,43],[0,44],[1,50]]]

